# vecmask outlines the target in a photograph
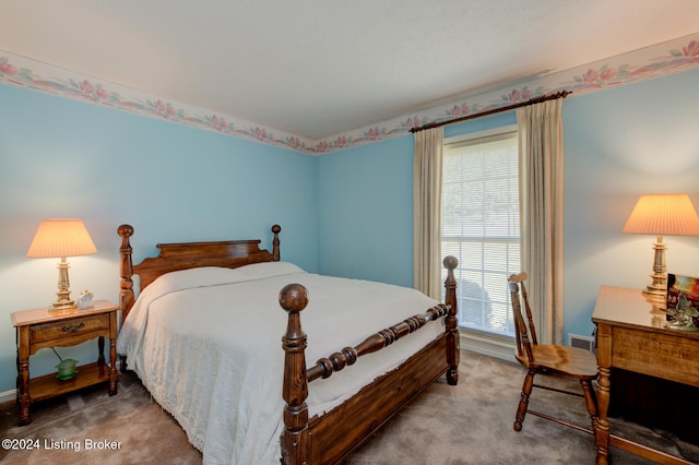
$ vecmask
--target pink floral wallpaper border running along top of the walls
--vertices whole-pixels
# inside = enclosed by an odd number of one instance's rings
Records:
[[[322,155],[402,136],[415,127],[497,109],[564,90],[572,92],[572,96],[569,97],[572,98],[695,68],[699,68],[699,33],[552,73],[517,88],[485,93],[435,107],[422,115],[405,115],[381,124],[312,141],[233,116],[210,114],[203,108],[169,102],[134,88],[80,75],[70,70],[0,50],[0,83],[216,131],[309,155]]]

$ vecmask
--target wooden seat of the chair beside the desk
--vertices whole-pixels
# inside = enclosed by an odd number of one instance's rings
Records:
[[[534,355],[530,362],[526,355],[517,359],[526,368],[550,370],[578,380],[597,378],[597,359],[593,353],[580,347],[537,344],[532,346]]]

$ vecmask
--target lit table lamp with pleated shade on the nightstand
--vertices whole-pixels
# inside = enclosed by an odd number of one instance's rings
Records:
[[[88,255],[96,253],[94,242],[80,219],[44,219],[34,236],[26,257],[34,259],[60,258],[58,264],[58,299],[48,308],[50,310],[69,310],[76,308],[70,298],[68,281],[69,263],[67,257]]]

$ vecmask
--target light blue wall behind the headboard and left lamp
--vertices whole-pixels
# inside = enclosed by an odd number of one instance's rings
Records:
[[[155,255],[157,242],[261,238],[271,247],[270,227],[279,223],[282,259],[315,272],[315,163],[270,145],[0,85],[0,393],[15,385],[11,312],[56,300],[58,260],[25,257],[40,219],[82,218],[95,241],[97,254],[69,260],[72,297],[92,289],[118,301],[121,223],[135,228],[135,262]],[[58,351],[88,362],[95,347]],[[51,350],[40,350],[32,375],[55,371],[57,362]]]

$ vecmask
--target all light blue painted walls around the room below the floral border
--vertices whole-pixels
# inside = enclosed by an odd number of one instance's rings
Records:
[[[621,228],[640,194],[687,192],[699,206],[699,70],[568,97],[565,331],[590,334],[600,285],[650,283],[653,237]],[[512,114],[446,135],[514,122]],[[413,136],[311,157],[0,85],[0,393],[14,388],[10,313],[55,299],[52,259],[27,259],[42,218],[82,218],[98,253],[71,262],[71,289],[118,299],[116,227],[134,260],[158,241],[262,238],[310,272],[411,286]],[[699,239],[667,237],[668,271],[699,276]],[[94,344],[59,349],[88,361]],[[56,356],[32,358],[32,374]]]

